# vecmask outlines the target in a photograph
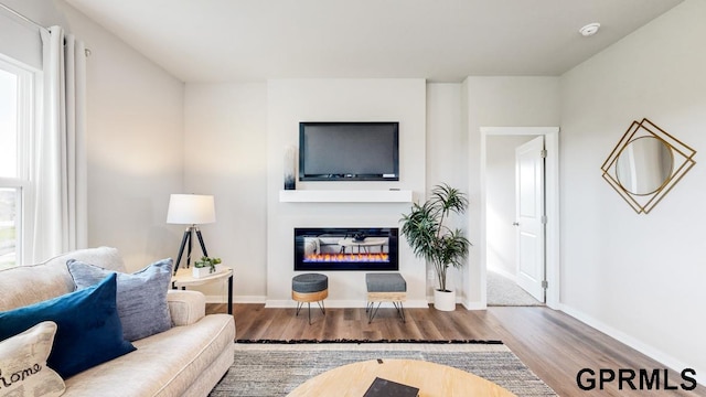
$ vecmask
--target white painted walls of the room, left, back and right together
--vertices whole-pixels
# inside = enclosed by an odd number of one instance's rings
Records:
[[[182,190],[216,195],[218,221],[203,227],[204,237],[212,254],[234,264],[243,300],[289,300],[293,225],[396,225],[407,205],[314,208],[277,201],[284,148],[296,144],[302,119],[403,121],[411,143],[405,143],[403,180],[394,186],[414,190],[417,198],[437,182],[468,191],[466,222],[478,246],[484,243],[479,128],[560,121],[564,310],[674,368],[695,368],[706,383],[698,223],[706,215],[706,171],[698,154],[696,167],[646,216],[634,214],[599,171],[630,122],[642,117],[697,151],[706,147],[702,0],[686,0],[570,71],[560,93],[557,77],[469,77],[462,85],[426,85],[426,92],[421,79],[311,79],[189,85],[185,103],[182,83],[63,1],[3,2],[42,24],[65,24],[93,52],[89,245],[118,247],[132,269],[174,256],[182,229],[164,217],[169,194]],[[340,186],[367,185],[325,187]],[[256,257],[242,259],[244,250]],[[402,260],[414,298],[422,300],[424,265],[408,251]],[[475,307],[483,291],[477,247],[463,278],[464,303]],[[362,301],[362,275],[336,273],[331,299]]]

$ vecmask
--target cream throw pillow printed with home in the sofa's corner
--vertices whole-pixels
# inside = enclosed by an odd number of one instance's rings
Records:
[[[46,366],[56,323],[41,322],[0,342],[0,395],[61,396],[64,380]]]

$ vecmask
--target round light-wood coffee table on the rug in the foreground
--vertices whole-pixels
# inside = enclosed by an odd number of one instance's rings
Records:
[[[419,388],[420,397],[515,396],[466,371],[416,360],[371,360],[328,371],[299,385],[289,396],[362,397],[375,377]]]

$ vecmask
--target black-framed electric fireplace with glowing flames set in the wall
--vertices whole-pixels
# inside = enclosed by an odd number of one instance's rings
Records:
[[[397,228],[295,228],[295,270],[399,270]]]

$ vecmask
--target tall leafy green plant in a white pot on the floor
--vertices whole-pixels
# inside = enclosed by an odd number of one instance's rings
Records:
[[[431,197],[419,205],[414,203],[409,214],[403,214],[402,234],[418,258],[434,265],[439,287],[434,291],[434,307],[438,310],[456,309],[456,293],[447,287],[449,266],[460,269],[466,265],[471,243],[459,228],[445,223],[451,214],[462,214],[468,198],[459,190],[440,184],[431,190]]]

